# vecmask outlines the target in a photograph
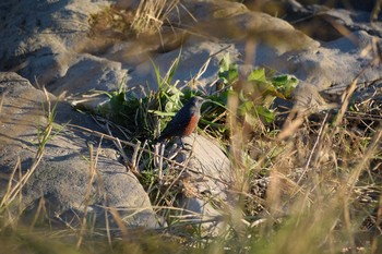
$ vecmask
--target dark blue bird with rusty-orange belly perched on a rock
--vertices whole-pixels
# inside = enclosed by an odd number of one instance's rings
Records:
[[[156,142],[163,142],[172,136],[179,136],[181,138],[191,135],[198,126],[201,117],[201,107],[204,101],[205,100],[199,96],[192,97],[177,114],[175,114]]]

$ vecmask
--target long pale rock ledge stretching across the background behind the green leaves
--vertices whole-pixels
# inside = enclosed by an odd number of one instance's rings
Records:
[[[119,8],[138,7],[136,1],[130,5],[119,2]],[[314,97],[313,101],[320,101],[315,98],[319,92],[331,88],[342,93],[375,57],[369,49],[380,41],[379,26],[368,24],[365,12],[355,11],[353,15],[349,11],[327,11],[325,14],[335,19],[337,25],[344,24],[354,32],[320,45],[280,19],[220,0],[183,1],[168,15],[162,35],[132,38],[110,28],[110,33],[103,31],[88,37],[92,14],[109,4],[102,0],[38,4],[33,0],[5,1],[0,10],[0,70],[17,71],[31,83],[46,85],[55,95],[116,90],[127,85],[142,96],[143,87],[158,87],[153,62],[164,76],[179,57],[172,83],[211,93],[219,60],[230,53],[239,64],[266,65],[295,74],[313,86],[300,90],[314,92],[297,98]],[[117,12],[115,16],[110,22],[123,17]],[[204,63],[208,64],[201,72]],[[381,71],[380,65],[368,68],[359,86],[374,84]]]

